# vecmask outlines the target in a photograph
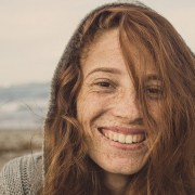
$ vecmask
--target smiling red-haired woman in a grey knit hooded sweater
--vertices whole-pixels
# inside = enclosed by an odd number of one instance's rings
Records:
[[[53,77],[43,185],[38,154],[5,166],[2,192],[194,194],[194,80],[193,53],[167,20],[141,3],[98,8]]]

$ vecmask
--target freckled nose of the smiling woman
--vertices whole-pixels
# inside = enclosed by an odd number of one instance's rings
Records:
[[[128,121],[141,120],[140,104],[136,99],[135,90],[120,90],[114,100],[113,115]]]

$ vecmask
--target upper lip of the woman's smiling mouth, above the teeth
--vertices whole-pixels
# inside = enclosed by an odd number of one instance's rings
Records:
[[[141,133],[146,133],[145,129],[143,128],[136,128],[136,127],[99,127],[98,128],[101,132],[102,131],[113,131],[113,132],[118,132],[122,134],[141,134]]]

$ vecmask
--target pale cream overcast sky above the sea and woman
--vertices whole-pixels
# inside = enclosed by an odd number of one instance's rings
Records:
[[[109,0],[0,0],[0,87],[50,81],[74,29]],[[164,15],[195,52],[194,0],[143,0]]]

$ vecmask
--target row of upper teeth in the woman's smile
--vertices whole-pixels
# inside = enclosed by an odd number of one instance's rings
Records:
[[[110,132],[110,131],[104,132],[104,135],[109,140],[113,140],[115,142],[126,143],[126,144],[139,143],[145,139],[144,134],[127,134],[126,135],[126,134]]]

